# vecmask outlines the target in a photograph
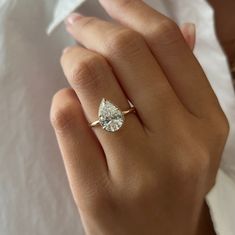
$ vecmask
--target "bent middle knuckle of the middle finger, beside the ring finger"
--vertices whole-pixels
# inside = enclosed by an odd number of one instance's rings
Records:
[[[105,47],[111,56],[124,56],[126,54],[138,54],[143,46],[143,38],[137,32],[131,29],[121,29],[112,33],[106,41]]]

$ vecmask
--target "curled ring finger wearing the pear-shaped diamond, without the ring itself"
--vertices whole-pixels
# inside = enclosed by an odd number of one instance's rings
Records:
[[[130,105],[112,69],[101,55],[88,49],[76,46],[65,51],[61,64],[70,85],[75,90],[85,116],[89,123],[98,119],[98,108],[102,98],[110,100],[122,111],[128,110]],[[101,127],[94,127],[106,155],[114,156],[126,145],[136,145],[136,138],[144,134],[144,128],[136,114],[125,117],[124,127],[117,132],[110,133]],[[112,160],[121,160],[118,159]],[[107,159],[109,164],[109,159]]]

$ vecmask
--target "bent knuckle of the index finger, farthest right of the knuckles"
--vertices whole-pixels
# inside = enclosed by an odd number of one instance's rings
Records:
[[[148,38],[153,45],[169,46],[182,39],[178,25],[171,19],[164,19],[151,28]]]

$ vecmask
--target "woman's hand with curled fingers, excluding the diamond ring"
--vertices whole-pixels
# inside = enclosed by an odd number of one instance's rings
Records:
[[[84,47],[61,63],[72,89],[51,120],[87,234],[194,234],[214,184],[228,122],[177,25],[139,0],[100,0],[119,24],[73,14]],[[91,129],[102,98],[126,116]]]

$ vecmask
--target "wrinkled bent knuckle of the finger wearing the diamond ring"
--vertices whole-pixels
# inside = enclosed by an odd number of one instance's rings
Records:
[[[70,80],[75,89],[94,90],[100,86],[104,74],[105,62],[101,56],[90,56],[77,63],[71,70]]]

